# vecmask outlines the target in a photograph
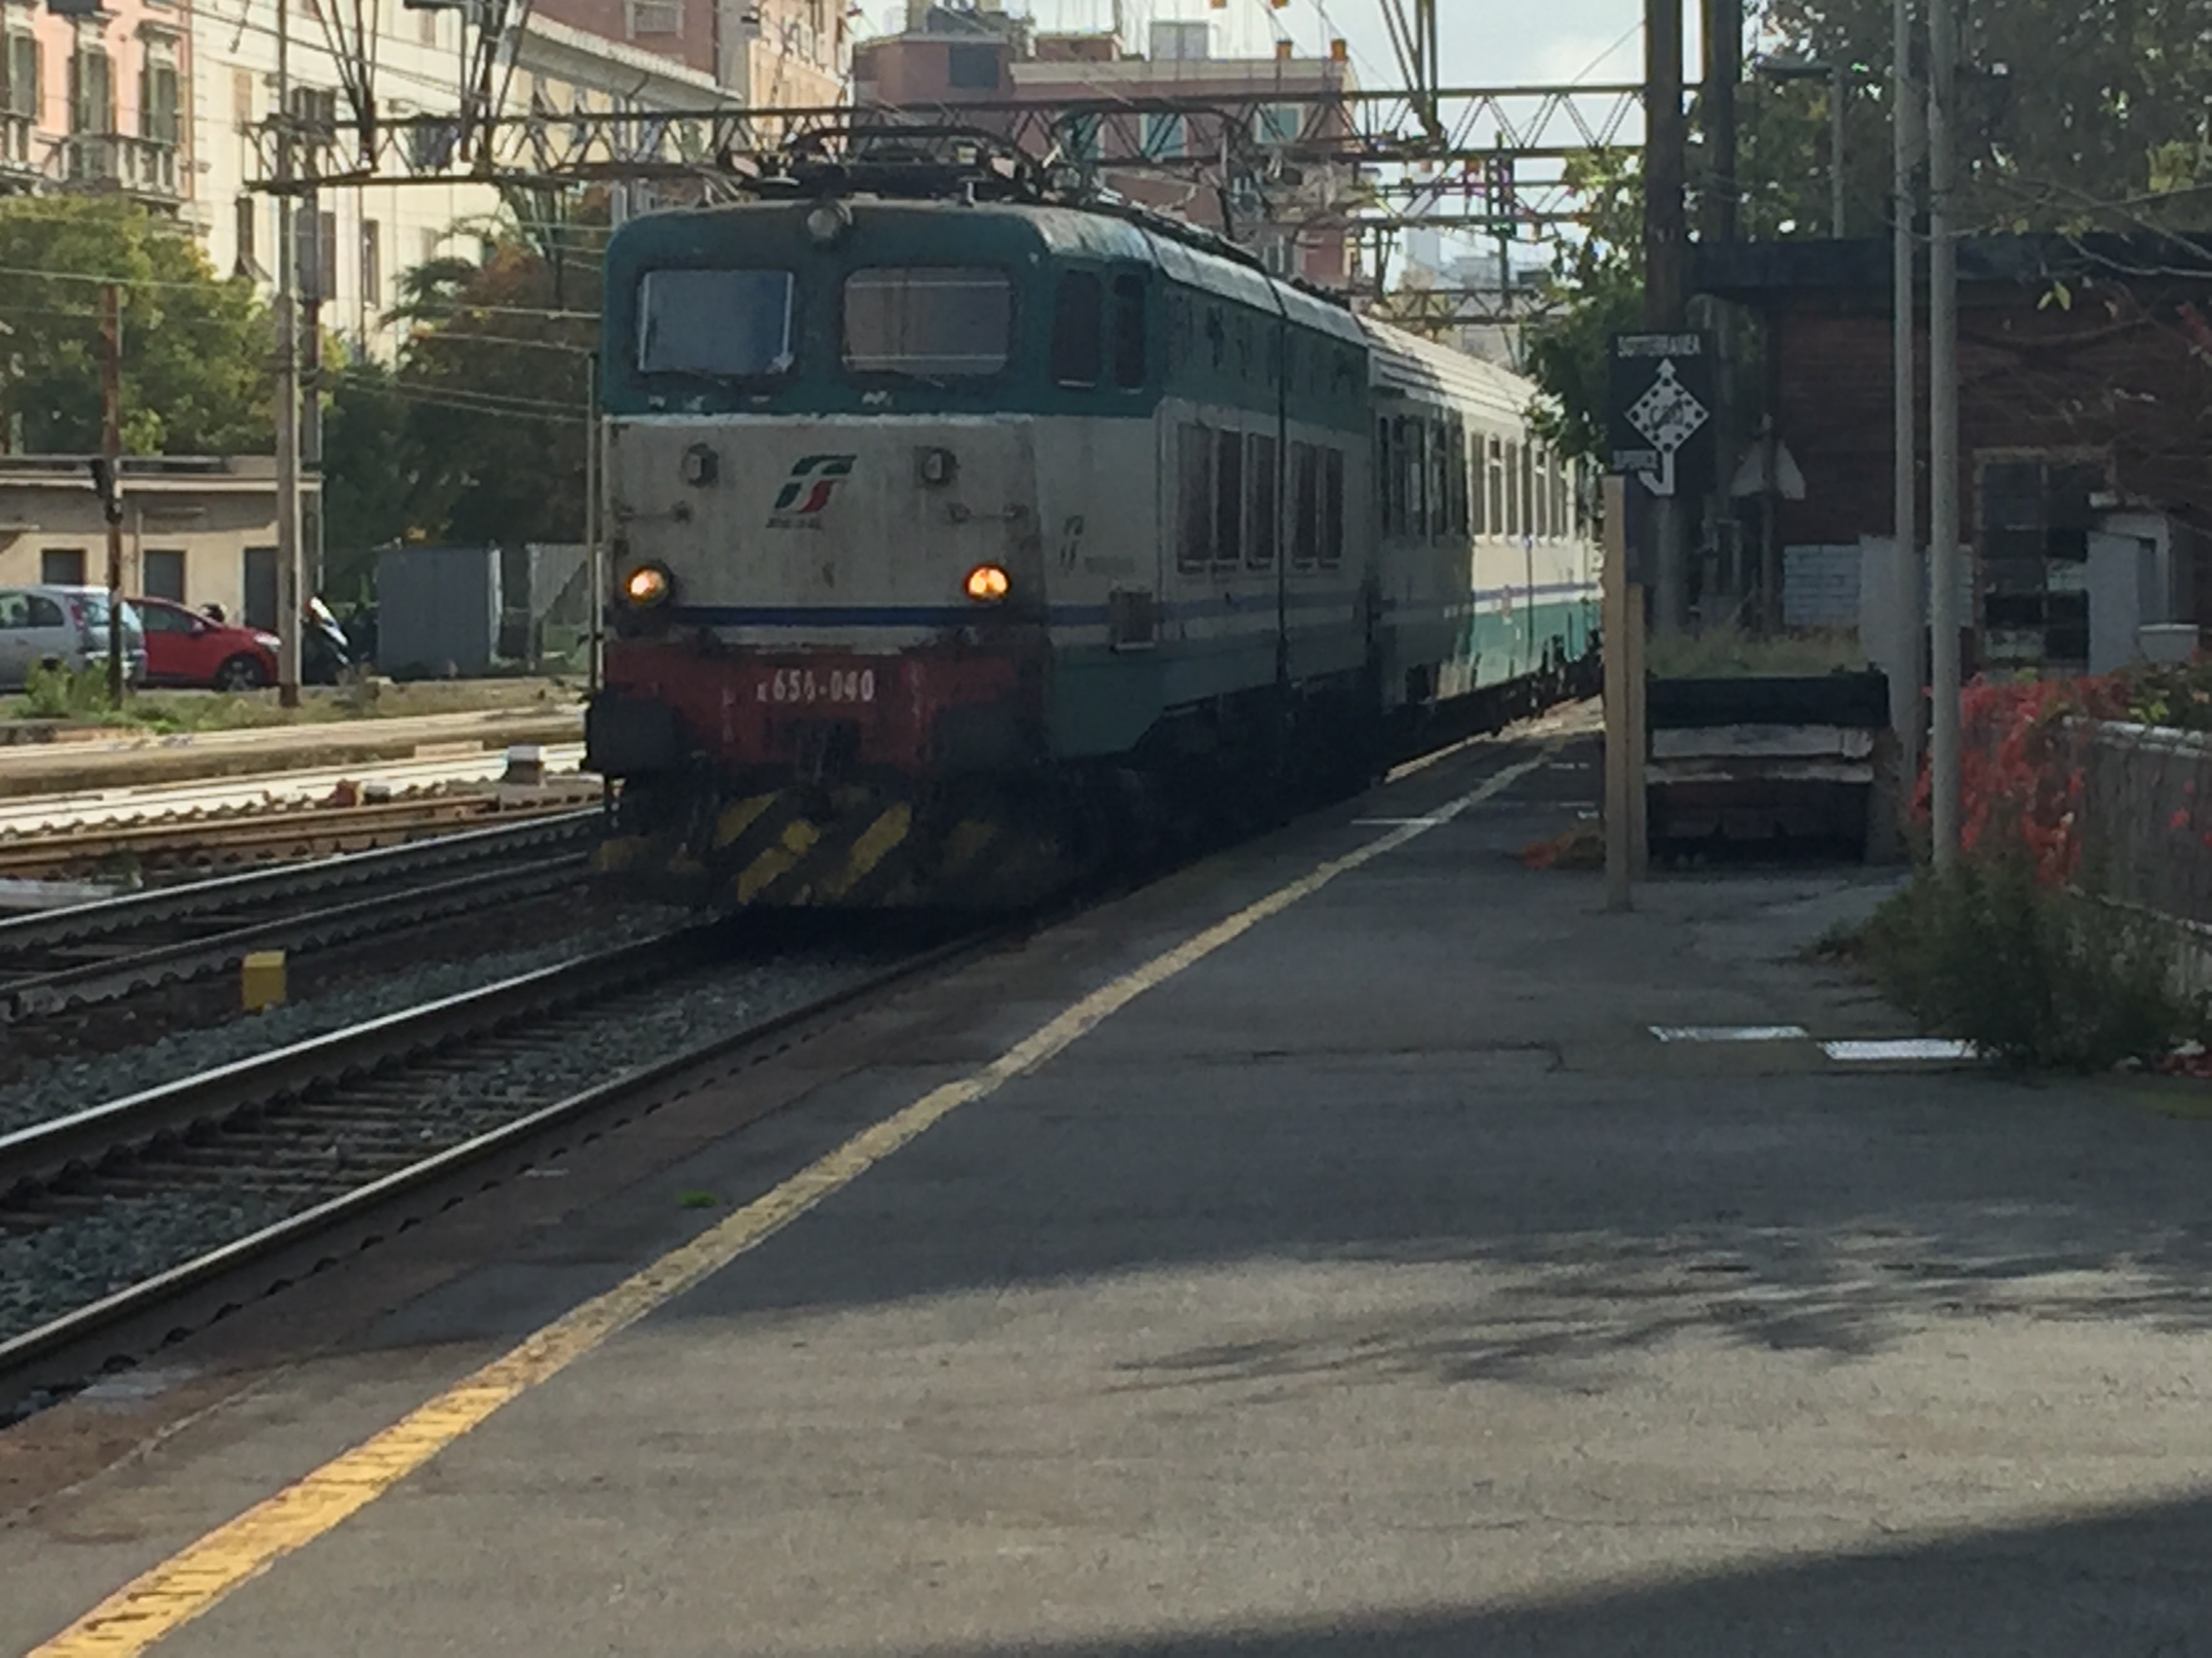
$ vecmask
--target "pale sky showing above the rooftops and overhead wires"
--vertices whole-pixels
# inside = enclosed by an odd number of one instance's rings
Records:
[[[1040,29],[1104,29],[1113,20],[1113,0],[1006,0],[1006,9],[1029,11]],[[905,15],[900,0],[865,0],[863,11],[878,33],[896,29]],[[1332,35],[1343,35],[1360,84],[1387,86],[1400,80],[1383,24],[1383,0],[1292,0],[1281,11],[1267,0],[1230,0],[1225,11],[1212,11],[1208,0],[1121,0],[1121,13],[1126,33],[1139,42],[1141,24],[1150,18],[1206,18],[1214,24],[1214,53],[1223,57],[1265,55],[1281,33],[1296,42],[1301,57],[1321,55]],[[1641,22],[1641,0],[1438,0],[1444,82],[1528,86],[1639,80]],[[1697,51],[1694,33],[1690,51]]]

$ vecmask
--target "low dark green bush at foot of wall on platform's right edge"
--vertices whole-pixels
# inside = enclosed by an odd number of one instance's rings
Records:
[[[2022,1068],[2108,1070],[2201,1037],[2166,924],[2037,882],[2022,851],[1922,871],[1867,924],[1863,959],[1924,1030]]]

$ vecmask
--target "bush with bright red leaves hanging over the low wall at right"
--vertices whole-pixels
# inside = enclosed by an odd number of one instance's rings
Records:
[[[2022,851],[2037,880],[2057,886],[2081,862],[2075,827],[2081,763],[2068,718],[2124,718],[2128,688],[2117,676],[1973,681],[1960,694],[1960,851]],[[1929,772],[1920,767],[1913,816],[1929,820]]]

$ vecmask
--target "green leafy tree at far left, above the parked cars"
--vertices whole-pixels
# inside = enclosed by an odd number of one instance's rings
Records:
[[[20,420],[22,447],[100,449],[106,281],[122,290],[124,449],[268,453],[268,309],[217,279],[188,230],[113,197],[0,199],[0,422]]]

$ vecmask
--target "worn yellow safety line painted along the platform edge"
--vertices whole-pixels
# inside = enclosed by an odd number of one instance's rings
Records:
[[[1546,745],[1544,754],[1551,747]],[[484,1368],[462,1377],[383,1433],[341,1452],[296,1483],[246,1510],[234,1521],[215,1528],[144,1576],[126,1583],[53,1640],[35,1647],[29,1658],[93,1658],[95,1654],[97,1658],[126,1658],[128,1654],[146,1651],[164,1636],[175,1634],[215,1607],[239,1585],[268,1572],[285,1554],[305,1547],[352,1514],[358,1514],[440,1450],[487,1421],[500,1406],[575,1364],[608,1337],[675,1300],[692,1284],[721,1271],[962,1105],[973,1105],[978,1099],[995,1094],[1004,1083],[1057,1057],[1146,990],[1203,962],[1270,915],[1279,915],[1298,900],[1312,898],[1338,875],[1387,851],[1396,851],[1469,807],[1482,805],[1515,778],[1542,765],[1544,754],[1504,767],[1480,787],[1427,818],[1416,818],[1391,829],[1387,836],[1376,836],[1356,851],[1347,851],[1343,858],[1316,864],[1287,886],[1276,886],[1228,920],[1214,922],[1172,951],[1155,955],[1133,973],[1124,973],[1113,984],[1093,990],[982,1070],[956,1083],[933,1088],[894,1116],[854,1134],[776,1189],[737,1209],[690,1242],[670,1249],[604,1295],[595,1295],[564,1318],[553,1320],[520,1346],[509,1349]]]

